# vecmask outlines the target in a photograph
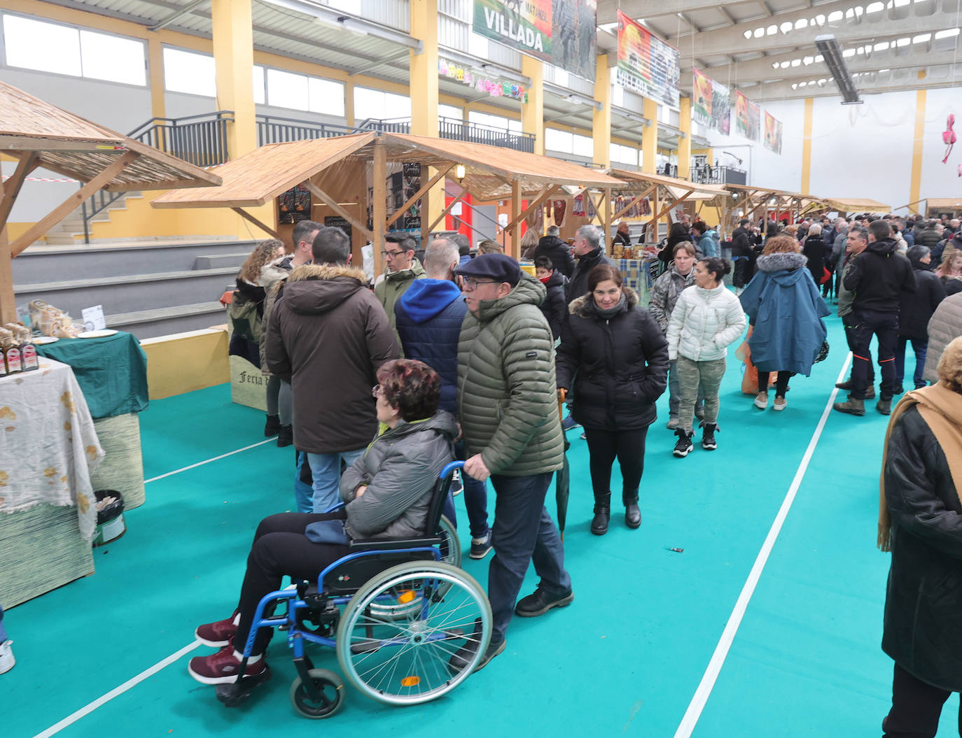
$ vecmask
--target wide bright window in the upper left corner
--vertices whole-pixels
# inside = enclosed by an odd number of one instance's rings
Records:
[[[9,66],[126,85],[147,84],[141,41],[19,15],[5,14],[3,30]]]

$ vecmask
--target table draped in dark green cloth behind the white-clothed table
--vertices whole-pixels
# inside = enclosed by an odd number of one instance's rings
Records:
[[[42,357],[69,364],[84,390],[100,443],[107,453],[90,475],[95,490],[111,489],[124,507],[143,504],[143,459],[138,413],[147,408],[147,357],[128,332],[101,338],[61,338],[37,347]]]

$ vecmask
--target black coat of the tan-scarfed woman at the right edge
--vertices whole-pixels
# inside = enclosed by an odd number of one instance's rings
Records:
[[[962,690],[962,504],[949,461],[912,407],[896,421],[885,465],[892,567],[882,651],[909,674]]]

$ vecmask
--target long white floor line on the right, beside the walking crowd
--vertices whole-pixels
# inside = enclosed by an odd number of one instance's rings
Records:
[[[842,371],[839,373],[839,378],[836,380],[837,382],[845,379],[850,362],[851,354],[848,354]],[[722,671],[724,660],[728,656],[728,651],[731,649],[731,644],[735,640],[738,628],[742,625],[742,619],[745,617],[748,602],[755,593],[755,586],[758,584],[758,579],[762,576],[762,570],[765,569],[765,565],[768,563],[769,555],[772,553],[772,548],[775,545],[775,540],[777,540],[778,534],[781,532],[785,518],[788,517],[788,511],[795,502],[798,487],[801,485],[801,480],[804,479],[805,472],[808,470],[808,462],[811,461],[812,455],[815,453],[815,447],[819,445],[819,439],[822,437],[822,431],[824,430],[825,423],[828,421],[828,416],[831,414],[832,403],[835,402],[838,392],[837,388],[833,388],[832,393],[828,396],[828,402],[825,403],[825,409],[823,410],[822,418],[819,420],[819,425],[815,428],[815,432],[812,433],[812,438],[808,442],[808,448],[805,449],[805,455],[801,457],[801,463],[798,464],[795,479],[792,480],[792,484],[788,488],[788,493],[785,495],[785,500],[782,501],[781,507],[778,509],[778,514],[775,515],[772,528],[769,529],[765,543],[762,544],[761,551],[758,552],[758,556],[755,558],[754,566],[751,567],[745,586],[742,587],[742,594],[739,595],[738,602],[735,603],[735,609],[733,609],[731,615],[728,616],[728,623],[725,624],[724,630],[722,630],[722,637],[719,639],[718,646],[715,647],[715,652],[712,653],[712,659],[708,662],[708,668],[705,670],[704,676],[701,677],[701,682],[698,684],[695,696],[685,711],[685,716],[681,719],[681,724],[674,732],[674,738],[690,738],[692,731],[695,730],[698,718],[701,717],[701,712],[708,702],[708,697],[715,688],[715,682]]]

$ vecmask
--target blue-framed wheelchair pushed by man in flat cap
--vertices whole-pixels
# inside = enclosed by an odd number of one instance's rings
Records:
[[[349,553],[324,569],[316,584],[272,592],[257,606],[237,681],[219,684],[217,699],[232,707],[269,678],[244,677],[261,627],[286,630],[297,677],[291,704],[301,715],[322,719],[344,701],[342,678],[317,669],[309,643],[338,654],[347,681],[376,701],[419,704],[447,694],[464,681],[491,641],[491,604],[481,585],[459,568],[457,533],[443,517],[453,472],[447,464],[435,481],[424,534],[411,540],[354,540]],[[283,607],[281,614],[271,614]],[[473,654],[450,664],[472,642]]]

